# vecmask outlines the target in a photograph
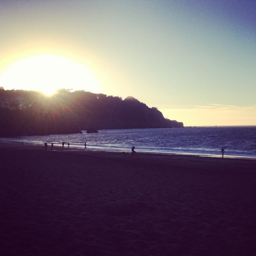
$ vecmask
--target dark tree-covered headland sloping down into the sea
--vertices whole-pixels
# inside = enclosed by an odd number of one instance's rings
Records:
[[[10,99],[12,108],[2,104]],[[90,127],[97,130],[184,127],[182,122],[164,118],[157,108],[148,108],[132,96],[122,100],[62,89],[49,98],[34,91],[1,90],[0,103],[0,137],[81,133]]]

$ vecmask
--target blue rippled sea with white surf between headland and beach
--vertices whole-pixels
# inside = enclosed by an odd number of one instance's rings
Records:
[[[156,154],[187,154],[221,157],[251,158],[256,160],[256,126],[186,127],[173,129],[99,130],[97,134],[24,136],[0,138],[2,141],[61,145],[87,150]]]

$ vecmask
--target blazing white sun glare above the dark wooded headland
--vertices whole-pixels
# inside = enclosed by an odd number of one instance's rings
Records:
[[[72,59],[44,54],[17,60],[0,74],[6,90],[33,90],[52,95],[58,89],[98,92],[98,79],[90,69]]]

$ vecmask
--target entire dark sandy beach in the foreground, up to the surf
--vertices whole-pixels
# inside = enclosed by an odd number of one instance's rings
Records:
[[[256,255],[256,161],[0,144],[1,255]]]

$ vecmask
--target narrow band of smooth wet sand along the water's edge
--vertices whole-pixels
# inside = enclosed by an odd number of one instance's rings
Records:
[[[239,172],[253,172],[256,173],[254,159],[241,159],[241,158],[227,158],[227,157],[204,157],[197,155],[185,155],[185,154],[154,154],[154,153],[138,153],[135,154],[124,152],[109,152],[109,151],[92,151],[90,148],[86,150],[77,150],[77,148],[68,148],[62,146],[54,146],[53,150],[45,150],[42,145],[31,145],[21,143],[2,143],[0,142],[0,151],[10,150],[12,151],[25,151],[25,152],[38,152],[52,154],[52,156],[68,155],[81,156],[84,158],[94,158],[99,160],[112,160],[123,162],[136,162],[140,164],[153,164],[158,166],[169,166],[174,164],[179,169],[207,169],[212,172],[219,172],[216,168],[228,171],[229,169],[236,169]],[[211,166],[212,165],[212,166]]]

